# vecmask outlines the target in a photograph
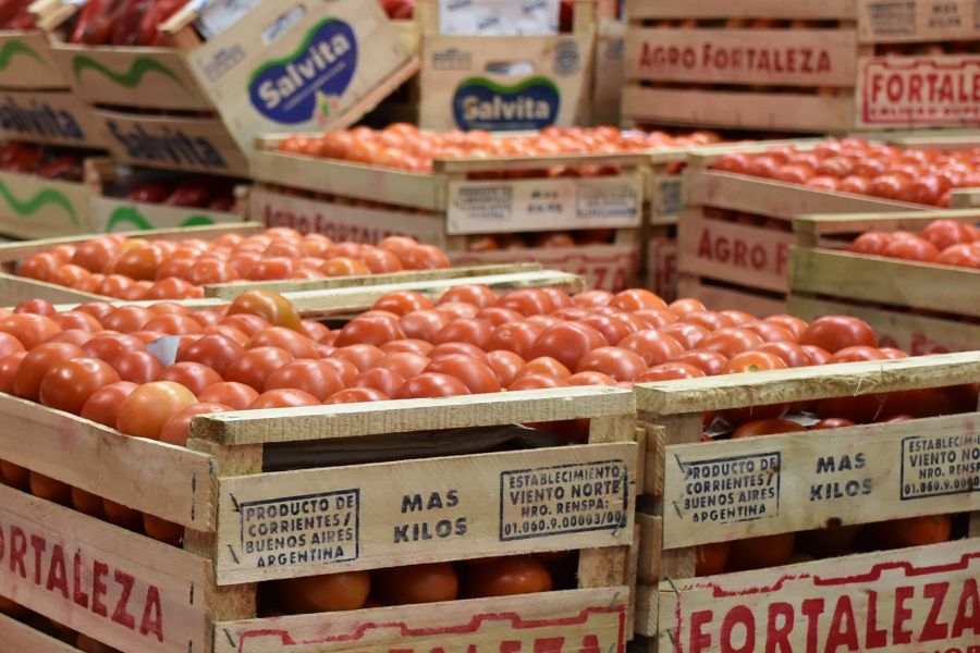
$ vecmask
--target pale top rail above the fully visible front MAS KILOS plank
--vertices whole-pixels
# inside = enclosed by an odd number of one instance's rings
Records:
[[[629,415],[634,409],[632,393],[623,390],[561,387],[215,414],[195,419],[192,431],[195,438],[219,444],[268,444],[584,419]]]

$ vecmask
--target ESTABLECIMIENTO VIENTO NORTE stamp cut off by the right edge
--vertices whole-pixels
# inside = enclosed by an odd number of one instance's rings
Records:
[[[902,501],[980,493],[977,435],[916,435],[902,441]]]

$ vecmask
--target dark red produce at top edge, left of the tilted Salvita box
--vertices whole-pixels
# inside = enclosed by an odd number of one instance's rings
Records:
[[[168,45],[160,26],[188,0],[87,0],[70,42],[88,46]]]

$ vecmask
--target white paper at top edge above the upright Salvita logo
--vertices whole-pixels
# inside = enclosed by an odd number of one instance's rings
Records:
[[[559,0],[439,0],[444,35],[549,35],[558,27]]]

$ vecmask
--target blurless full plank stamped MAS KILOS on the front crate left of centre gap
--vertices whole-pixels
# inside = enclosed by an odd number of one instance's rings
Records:
[[[630,456],[636,443],[221,479],[218,582],[623,544]]]

